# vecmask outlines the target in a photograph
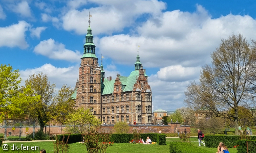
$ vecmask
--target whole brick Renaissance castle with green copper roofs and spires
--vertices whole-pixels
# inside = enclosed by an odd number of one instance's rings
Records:
[[[75,107],[89,108],[106,124],[123,121],[127,124],[152,124],[152,91],[148,76],[140,62],[139,54],[135,70],[129,77],[120,74],[115,80],[105,79],[103,65],[98,66],[92,30],[89,24],[83,56],[79,67],[79,79],[72,98]]]

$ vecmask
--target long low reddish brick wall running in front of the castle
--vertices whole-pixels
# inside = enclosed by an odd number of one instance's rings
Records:
[[[190,131],[190,126],[188,125],[180,125],[180,123],[168,123],[168,125],[129,125],[130,130],[129,133],[132,133],[132,130],[136,128],[137,130],[141,130],[141,133],[158,133],[160,130],[162,133],[177,133],[177,130],[187,130]],[[50,133],[54,134],[61,134],[64,133],[65,126],[47,126],[46,130],[47,132],[50,131]],[[102,124],[100,131],[103,132],[112,132],[114,129],[114,124]],[[40,130],[39,126],[35,127],[35,132]],[[11,136],[19,136],[19,133],[22,133],[22,136],[26,136],[27,133],[33,132],[33,126],[15,126],[15,130],[11,126],[7,127],[7,136],[9,136],[9,132],[11,132]],[[0,126],[0,133],[5,133],[5,127]]]

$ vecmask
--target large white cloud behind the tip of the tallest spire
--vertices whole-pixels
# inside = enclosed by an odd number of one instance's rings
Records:
[[[76,2],[78,5],[80,1]],[[83,10],[76,10],[71,8],[62,17],[62,27],[67,31],[74,31],[77,34],[86,34],[88,27],[88,20],[84,17],[88,16],[88,12],[92,14],[91,27],[93,27],[94,34],[112,34],[113,32],[120,32],[125,27],[133,25],[135,19],[142,14],[157,15],[166,8],[165,3],[156,0],[151,1],[90,1],[96,3],[100,7],[94,7]],[[84,2],[85,3],[85,2]],[[147,7],[144,7],[147,6]],[[102,28],[102,23],[104,28]]]

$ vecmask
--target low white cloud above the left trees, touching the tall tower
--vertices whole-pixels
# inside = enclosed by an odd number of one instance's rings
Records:
[[[24,86],[25,80],[29,78],[29,75],[43,73],[47,74],[51,83],[55,83],[56,87],[60,89],[62,85],[68,85],[72,88],[75,87],[78,79],[78,65],[70,67],[55,67],[51,64],[45,64],[41,67],[20,70],[20,77],[22,77],[22,86]]]

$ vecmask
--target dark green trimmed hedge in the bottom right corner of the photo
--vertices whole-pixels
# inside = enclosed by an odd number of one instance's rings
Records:
[[[246,141],[248,141],[248,152],[255,153],[256,152],[256,140],[237,140],[238,153],[247,152]]]

